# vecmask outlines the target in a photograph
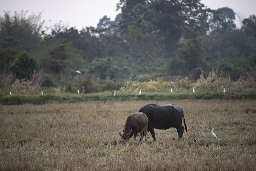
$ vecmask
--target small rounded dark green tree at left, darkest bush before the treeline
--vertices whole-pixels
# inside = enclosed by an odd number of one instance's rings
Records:
[[[30,76],[35,71],[36,62],[26,52],[22,51],[17,60],[10,66],[10,71],[17,76],[18,79],[30,79]]]

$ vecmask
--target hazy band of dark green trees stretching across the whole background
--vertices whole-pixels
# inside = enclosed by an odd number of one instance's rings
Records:
[[[88,78],[117,82],[148,52],[161,63],[148,79],[197,80],[202,71],[215,70],[236,80],[256,72],[255,15],[237,28],[232,9],[212,10],[199,0],[120,0],[117,9],[121,14],[114,21],[105,15],[97,27],[82,30],[61,22],[46,29],[41,13],[5,12],[0,16],[0,75],[29,79],[43,71],[44,86]]]

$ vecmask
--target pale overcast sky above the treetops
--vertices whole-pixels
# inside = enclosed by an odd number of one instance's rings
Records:
[[[3,11],[29,11],[29,14],[42,12],[45,25],[52,26],[59,21],[81,30],[83,27],[96,27],[99,19],[107,15],[114,20],[119,0],[0,0],[0,15]],[[256,14],[256,0],[201,0],[210,9],[230,7],[242,19]],[[238,22],[237,22],[238,23]]]

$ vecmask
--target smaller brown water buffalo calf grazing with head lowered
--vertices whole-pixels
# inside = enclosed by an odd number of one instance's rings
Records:
[[[127,117],[127,120],[124,124],[123,135],[119,133],[119,135],[124,140],[129,140],[133,135],[134,141],[136,141],[137,133],[140,133],[140,141],[143,140],[143,136],[145,135],[145,140],[147,139],[148,132],[148,117],[143,112],[137,112]]]

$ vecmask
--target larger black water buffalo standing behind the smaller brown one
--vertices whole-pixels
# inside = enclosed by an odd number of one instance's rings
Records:
[[[154,141],[156,141],[154,128],[176,128],[178,137],[182,138],[184,132],[184,127],[182,126],[182,118],[184,119],[184,125],[186,129],[185,117],[182,108],[178,107],[176,104],[147,104],[140,108],[139,112],[143,112],[148,116],[148,131],[151,132]]]

